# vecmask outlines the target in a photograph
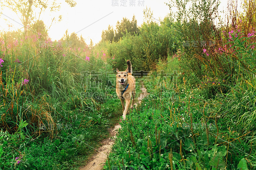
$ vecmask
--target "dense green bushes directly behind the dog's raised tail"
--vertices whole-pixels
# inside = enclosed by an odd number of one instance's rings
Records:
[[[121,41],[107,47],[108,55],[114,57],[113,68],[125,70],[125,61],[129,59],[134,71],[156,70],[159,59],[166,60],[178,49],[179,37],[174,36],[176,30],[168,18],[164,18],[160,26],[154,22],[144,23],[139,32],[139,35],[127,33]]]

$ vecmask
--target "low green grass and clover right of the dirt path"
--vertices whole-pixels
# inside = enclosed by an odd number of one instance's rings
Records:
[[[155,86],[159,78],[151,80],[154,82],[147,85],[150,95],[120,123],[122,129],[105,169],[256,168],[255,126],[249,127],[239,121],[235,110],[225,108],[239,106],[227,102],[234,97],[232,91],[221,102],[220,97],[208,99],[204,89],[186,83],[174,91],[164,81]]]

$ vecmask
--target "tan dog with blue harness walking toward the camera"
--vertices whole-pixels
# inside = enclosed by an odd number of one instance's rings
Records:
[[[132,63],[127,60],[127,69],[125,71],[119,71],[116,68],[116,95],[119,97],[123,107],[123,119],[126,119],[128,107],[131,102],[131,108],[134,105],[135,99],[135,78],[132,76]],[[124,105],[125,100],[125,105]]]

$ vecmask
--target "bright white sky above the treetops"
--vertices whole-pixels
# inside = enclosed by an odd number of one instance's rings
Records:
[[[226,6],[226,1],[221,3],[220,9]],[[153,11],[156,19],[163,19],[170,13],[169,7],[165,4],[169,3],[168,0],[76,0],[77,4],[72,8],[64,0],[61,2],[63,3],[60,11],[55,13],[44,11],[39,18],[49,28],[52,18],[62,15],[62,20],[53,23],[48,30],[52,41],[60,40],[68,29],[69,35],[75,32],[79,37],[82,35],[87,44],[90,43],[90,39],[95,44],[100,41],[102,30],[107,29],[108,25],[115,29],[116,22],[121,21],[123,17],[131,20],[135,15],[137,24],[140,26],[143,23],[143,10],[146,7]],[[18,24],[21,21],[14,12],[5,8],[2,13],[4,15],[0,15],[0,31],[23,29],[23,26]]]

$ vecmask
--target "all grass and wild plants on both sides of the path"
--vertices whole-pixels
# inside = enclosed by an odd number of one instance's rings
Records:
[[[206,7],[199,13],[207,16],[211,5]],[[112,67],[126,68],[121,61],[130,52],[138,54],[133,66],[155,70],[136,79],[137,96],[141,81],[150,94],[120,123],[104,169],[256,169],[255,21],[247,24],[254,16],[250,10],[222,33],[222,26],[212,32],[211,20],[200,23],[207,29],[199,29],[192,19],[193,25],[172,23],[177,26],[168,29],[174,38],[169,39],[159,34],[166,24],[151,23],[142,25],[140,36],[127,34],[116,44],[93,48],[79,39],[52,42],[33,31],[29,36],[1,34],[0,169],[84,165],[122,115]],[[164,47],[151,40],[158,34],[171,50],[156,50]],[[202,37],[216,44],[178,48],[178,42],[200,43]]]

